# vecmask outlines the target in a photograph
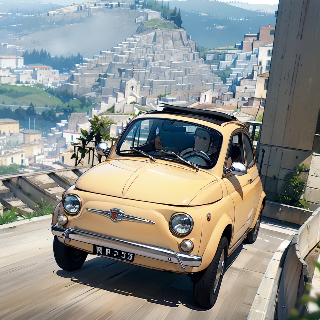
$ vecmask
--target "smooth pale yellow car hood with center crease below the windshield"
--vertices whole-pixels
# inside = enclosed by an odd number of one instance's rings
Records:
[[[108,160],[84,172],[75,186],[108,196],[179,206],[222,198],[220,183],[212,174],[174,162]]]

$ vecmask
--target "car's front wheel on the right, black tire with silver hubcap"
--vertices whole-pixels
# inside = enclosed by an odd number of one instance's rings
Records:
[[[228,239],[220,239],[216,254],[209,267],[197,272],[193,279],[193,297],[203,308],[212,308],[218,298],[222,277],[226,270]],[[217,276],[219,275],[219,278]]]

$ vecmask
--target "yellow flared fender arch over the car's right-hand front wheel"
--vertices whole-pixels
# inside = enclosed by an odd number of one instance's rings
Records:
[[[207,220],[206,216],[204,216],[203,219]],[[222,234],[228,225],[231,225],[233,228],[233,221],[230,215],[228,215],[227,213],[223,213],[222,216],[220,216],[220,219],[218,220],[218,222],[216,223],[212,231],[209,241],[205,246],[204,252],[199,252],[199,255],[202,256],[201,266],[197,268],[193,268],[192,272],[204,270],[209,266],[214,255],[216,254]],[[232,239],[232,235],[231,235],[231,239]],[[231,241],[231,239],[228,239],[228,241]]]

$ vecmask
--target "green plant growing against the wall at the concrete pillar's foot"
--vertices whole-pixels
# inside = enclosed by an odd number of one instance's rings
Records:
[[[308,168],[305,165],[298,165],[296,171],[291,173],[292,177],[289,180],[290,184],[287,190],[284,191],[285,195],[276,195],[275,201],[283,204],[292,205],[304,209],[309,209],[309,202],[306,198],[301,198],[306,186],[306,180],[301,179],[302,172],[307,172]]]

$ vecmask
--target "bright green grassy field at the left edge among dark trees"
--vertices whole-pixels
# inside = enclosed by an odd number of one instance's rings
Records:
[[[0,91],[0,103],[7,105],[38,107],[62,105],[59,98],[45,92],[41,88],[29,87],[25,85],[2,84]]]

